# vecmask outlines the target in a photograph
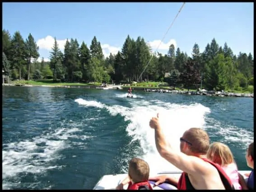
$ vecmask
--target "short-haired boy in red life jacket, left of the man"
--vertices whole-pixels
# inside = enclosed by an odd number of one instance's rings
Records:
[[[149,164],[140,158],[132,158],[129,162],[128,176],[116,187],[116,189],[123,189],[124,185],[129,183],[127,190],[153,190],[148,179]]]

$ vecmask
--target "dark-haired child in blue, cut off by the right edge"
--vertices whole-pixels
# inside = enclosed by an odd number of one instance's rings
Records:
[[[252,169],[251,173],[249,174],[245,174],[245,176],[248,177],[247,182],[245,181],[245,179],[243,178],[243,176],[241,174],[239,174],[239,183],[242,186],[242,189],[249,189],[249,190],[253,190],[254,188],[254,151],[253,151],[253,143],[252,142],[247,151],[246,151],[246,162],[247,162],[247,166],[250,167]]]

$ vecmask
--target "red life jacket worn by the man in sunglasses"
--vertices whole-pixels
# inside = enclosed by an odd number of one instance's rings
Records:
[[[225,189],[234,189],[230,178],[224,172],[224,170],[221,168],[221,166],[219,166],[218,164],[216,164],[212,161],[209,161],[206,158],[202,158],[202,160],[210,163],[211,165],[213,165],[218,170],[220,179],[221,179]],[[191,182],[188,178],[187,173],[183,172],[180,179],[179,179],[179,182],[178,182],[178,190],[188,190],[188,189],[195,189],[195,188],[192,186],[192,184],[191,184]]]

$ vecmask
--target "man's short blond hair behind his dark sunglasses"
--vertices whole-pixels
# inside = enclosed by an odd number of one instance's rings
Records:
[[[190,128],[184,133],[184,139],[190,142],[191,152],[205,155],[209,149],[210,139],[205,130],[200,128]]]

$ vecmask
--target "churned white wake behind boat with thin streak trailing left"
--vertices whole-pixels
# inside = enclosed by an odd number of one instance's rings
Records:
[[[90,102],[91,105],[88,105],[88,101],[84,99],[76,99],[75,101],[86,106],[104,106],[111,115],[120,114],[125,117],[125,121],[130,120],[126,131],[128,135],[133,137],[133,140],[140,141],[140,146],[144,152],[144,155],[140,157],[149,163],[151,174],[178,170],[163,159],[155,147],[154,130],[149,127],[149,120],[152,116],[156,116],[159,112],[159,120],[166,138],[176,150],[180,150],[179,138],[182,134],[191,127],[203,127],[205,124],[204,115],[206,112],[210,112],[209,108],[201,104],[179,105],[158,100],[151,101],[151,105],[145,101],[148,106],[144,106],[142,101],[134,101],[131,103],[132,108],[119,105],[107,106],[100,102],[96,102],[97,104]],[[124,167],[124,170],[127,171],[127,167]]]

